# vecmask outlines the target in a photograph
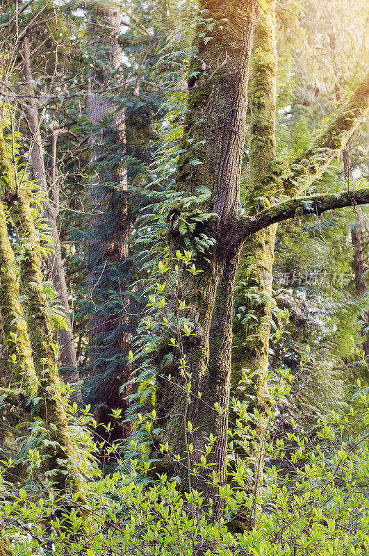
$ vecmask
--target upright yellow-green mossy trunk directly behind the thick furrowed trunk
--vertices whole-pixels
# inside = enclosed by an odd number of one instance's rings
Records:
[[[268,9],[266,9],[268,8]],[[277,47],[275,41],[275,1],[268,1],[262,11],[252,50],[252,101],[249,150],[249,190],[246,206],[255,214],[270,198],[277,195],[270,182],[270,164],[276,154],[275,117],[277,83]],[[261,411],[266,404],[270,337],[270,297],[272,295],[272,265],[277,227],[270,226],[245,240],[237,272],[235,295],[236,318],[233,322],[231,394],[247,403],[250,421],[254,409]],[[250,294],[259,296],[252,301]],[[247,387],[238,391],[240,379],[246,373]],[[261,423],[256,423],[260,425]]]

